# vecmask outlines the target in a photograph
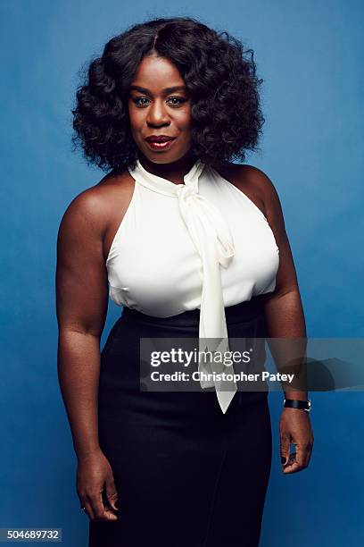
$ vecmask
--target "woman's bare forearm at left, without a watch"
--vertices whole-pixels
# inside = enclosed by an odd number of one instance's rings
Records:
[[[99,450],[97,396],[100,339],[87,332],[61,329],[58,378],[78,458]]]

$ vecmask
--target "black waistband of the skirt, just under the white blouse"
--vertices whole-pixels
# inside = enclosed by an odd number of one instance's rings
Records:
[[[244,321],[252,321],[253,319],[261,316],[263,313],[263,304],[266,300],[266,295],[261,294],[252,297],[251,300],[246,300],[235,304],[234,306],[225,307],[225,317],[227,324],[242,323]],[[200,309],[191,309],[177,316],[169,317],[156,317],[148,316],[132,307],[123,307],[121,316],[135,320],[137,322],[145,324],[158,324],[158,325],[178,325],[178,326],[191,326],[198,324],[200,320]]]

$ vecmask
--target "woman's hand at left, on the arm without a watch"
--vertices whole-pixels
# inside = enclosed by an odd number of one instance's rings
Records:
[[[103,504],[103,489],[110,504]],[[79,458],[77,468],[77,492],[81,507],[91,520],[117,520],[113,511],[118,511],[115,502],[118,501],[112,467],[102,450],[86,457]]]

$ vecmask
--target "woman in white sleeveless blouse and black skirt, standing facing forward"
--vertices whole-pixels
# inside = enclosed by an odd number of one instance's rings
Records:
[[[78,90],[74,142],[110,171],[63,215],[56,273],[90,547],[259,543],[267,391],[215,380],[144,391],[139,374],[141,338],[305,337],[277,192],[230,162],[256,147],[263,123],[246,53],[192,18],[158,19],[112,38]],[[123,311],[100,353],[109,291]],[[307,403],[291,404],[280,420],[287,474],[307,467],[313,442]]]

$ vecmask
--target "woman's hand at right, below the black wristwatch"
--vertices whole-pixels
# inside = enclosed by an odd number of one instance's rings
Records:
[[[284,408],[279,422],[283,473],[296,473],[309,465],[313,447],[310,416],[301,408]],[[290,454],[291,442],[295,451]]]

